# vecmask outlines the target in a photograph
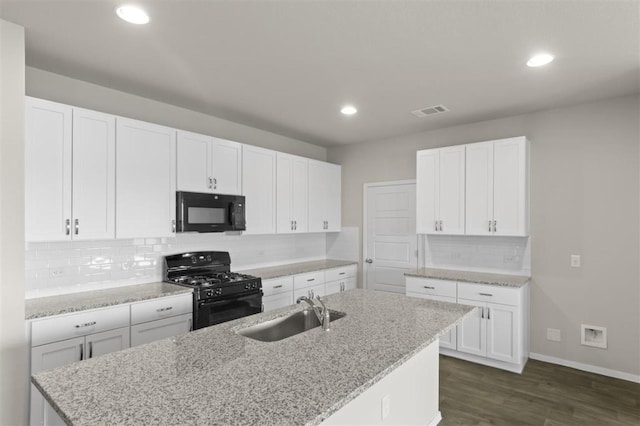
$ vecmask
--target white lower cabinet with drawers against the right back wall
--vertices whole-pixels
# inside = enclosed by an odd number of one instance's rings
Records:
[[[450,335],[441,337],[443,354],[522,372],[529,356],[528,285],[515,288],[418,277],[407,277],[406,282],[407,296],[478,307]]]

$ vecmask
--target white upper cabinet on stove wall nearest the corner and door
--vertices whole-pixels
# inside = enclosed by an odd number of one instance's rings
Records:
[[[309,232],[340,232],[342,166],[309,160]]]

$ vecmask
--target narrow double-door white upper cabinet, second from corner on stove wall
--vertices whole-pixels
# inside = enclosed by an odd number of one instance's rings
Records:
[[[307,232],[309,160],[295,155],[277,155],[277,231],[279,234]]]

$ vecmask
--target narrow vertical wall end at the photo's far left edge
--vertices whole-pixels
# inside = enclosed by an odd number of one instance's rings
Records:
[[[0,424],[26,423],[24,28],[0,20]]]

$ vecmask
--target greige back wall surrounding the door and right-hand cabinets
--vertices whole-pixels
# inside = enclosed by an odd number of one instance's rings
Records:
[[[362,228],[364,183],[414,179],[420,149],[527,136],[532,169],[531,352],[637,377],[639,101],[632,95],[332,147],[328,160],[342,164],[343,170],[343,225]],[[582,255],[582,268],[570,267],[571,254]],[[583,323],[607,327],[609,348],[581,346]],[[562,341],[546,340],[547,328],[560,329]]]

